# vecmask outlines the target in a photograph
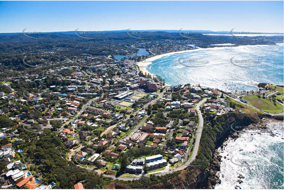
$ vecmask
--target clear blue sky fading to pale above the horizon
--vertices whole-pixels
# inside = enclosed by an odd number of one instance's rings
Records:
[[[0,24],[0,33],[284,27],[283,1],[0,1]]]

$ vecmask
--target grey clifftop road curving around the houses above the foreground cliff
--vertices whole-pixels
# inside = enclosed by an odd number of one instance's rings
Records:
[[[176,172],[176,171],[182,170],[182,169],[186,168],[196,158],[197,152],[198,152],[198,148],[199,148],[200,138],[201,138],[201,134],[202,134],[202,129],[203,129],[203,117],[202,117],[202,114],[201,114],[201,111],[200,111],[200,105],[203,104],[205,101],[206,101],[206,99],[203,99],[202,101],[200,101],[196,105],[196,111],[197,111],[197,114],[198,114],[198,117],[199,117],[199,125],[198,125],[198,128],[197,128],[196,141],[195,141],[195,145],[194,145],[194,149],[193,149],[191,158],[185,164],[182,164],[178,168],[169,170],[168,172],[157,173],[157,174],[154,174],[154,175],[162,176],[162,175],[166,175],[168,173],[172,173],[172,172]],[[103,174],[103,176],[111,177],[113,179],[118,179],[118,180],[124,180],[124,181],[138,180],[138,179],[141,178],[141,176],[137,176],[137,177],[115,177],[115,176],[110,176],[110,175],[106,175],[106,174]]]

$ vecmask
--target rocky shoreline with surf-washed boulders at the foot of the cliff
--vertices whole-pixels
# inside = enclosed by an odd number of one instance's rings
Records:
[[[278,136],[278,133],[273,133],[273,130],[267,127],[267,124],[270,122],[283,122],[279,120],[275,120],[272,118],[262,118],[260,123],[253,123],[251,125],[248,125],[245,127],[245,129],[241,130],[240,132],[230,132],[228,137],[226,137],[223,141],[223,144],[215,149],[215,152],[213,154],[213,162],[209,168],[210,170],[210,176],[208,177],[208,188],[214,189],[216,184],[221,183],[221,179],[224,178],[224,174],[221,174],[222,177],[220,178],[220,163],[222,156],[220,155],[220,152],[223,152],[224,148],[227,146],[228,141],[236,141],[236,139],[239,137],[240,133],[250,133],[250,135],[254,135],[256,133],[270,133],[270,136]],[[255,132],[251,133],[248,131],[256,130]],[[282,138],[283,139],[283,138]],[[220,152],[219,152],[219,150]],[[243,149],[240,149],[239,151],[242,151]],[[224,156],[224,159],[230,159],[231,155]],[[241,184],[243,181],[241,179],[245,178],[245,176],[238,174],[237,176],[237,182]],[[235,189],[241,189],[240,185],[236,185]]]

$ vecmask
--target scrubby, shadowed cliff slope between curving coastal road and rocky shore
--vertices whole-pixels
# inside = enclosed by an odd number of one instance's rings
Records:
[[[126,184],[124,181],[121,181],[120,184],[112,182],[107,188],[129,188],[130,186],[131,188],[141,189],[214,188],[215,184],[220,182],[216,171],[220,171],[219,162],[221,157],[218,155],[216,149],[223,144],[224,140],[228,138],[229,135],[235,132],[231,128],[231,124],[233,124],[232,127],[234,128],[234,126],[248,126],[252,123],[258,123],[259,121],[259,117],[251,117],[248,114],[243,113],[227,113],[218,116],[211,121],[211,125],[204,124],[199,151],[196,159],[191,163],[191,166],[188,166],[176,174],[167,174],[163,177],[152,176],[157,183],[155,183],[150,176],[150,178],[144,177],[139,180],[131,181],[131,183],[128,183],[125,187],[122,185]],[[238,136],[236,135],[236,137],[233,138],[237,137]]]

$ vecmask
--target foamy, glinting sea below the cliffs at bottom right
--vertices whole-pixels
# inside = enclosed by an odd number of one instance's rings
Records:
[[[236,141],[229,138],[223,152],[218,149],[221,184],[215,189],[234,189],[236,185],[242,189],[283,189],[283,122],[269,122],[266,127],[274,137],[266,131],[246,130]],[[241,184],[237,182],[239,174],[245,177]]]

